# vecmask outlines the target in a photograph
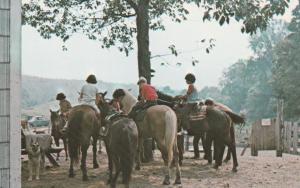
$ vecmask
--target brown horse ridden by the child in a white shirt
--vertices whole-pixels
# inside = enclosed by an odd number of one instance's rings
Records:
[[[68,139],[70,167],[69,177],[75,176],[73,165],[79,161],[79,150],[81,150],[81,171],[82,180],[87,181],[86,157],[90,145],[90,139],[93,138],[93,168],[98,168],[97,162],[97,140],[99,137],[101,122],[96,111],[88,105],[78,105],[73,107],[68,116]]]

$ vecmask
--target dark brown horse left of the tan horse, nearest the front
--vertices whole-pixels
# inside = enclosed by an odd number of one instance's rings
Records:
[[[102,113],[102,120],[105,118],[104,143],[109,162],[109,179],[107,183],[112,188],[116,187],[116,181],[120,172],[123,175],[123,184],[129,188],[129,181],[138,149],[138,129],[135,122],[126,115],[121,115],[112,110],[109,103],[104,100],[101,94],[99,108]],[[115,167],[115,175],[113,169]]]

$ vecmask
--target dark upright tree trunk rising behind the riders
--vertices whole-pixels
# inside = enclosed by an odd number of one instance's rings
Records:
[[[137,6],[137,45],[139,76],[151,82],[151,65],[149,51],[149,0],[139,0]]]

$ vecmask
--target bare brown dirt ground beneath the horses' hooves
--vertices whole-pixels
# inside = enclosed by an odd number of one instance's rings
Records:
[[[241,149],[238,149],[240,154]],[[300,156],[284,154],[282,158],[275,157],[275,151],[260,151],[258,157],[250,156],[248,148],[244,156],[238,156],[239,167],[237,173],[231,172],[232,163],[223,164],[219,170],[207,165],[205,160],[189,159],[192,152],[184,154],[181,186],[163,186],[163,162],[160,153],[155,152],[155,161],[143,164],[141,171],[134,171],[130,187],[190,187],[190,188],[229,188],[229,187],[263,187],[263,188],[299,188],[300,187]],[[201,154],[201,157],[203,154]],[[89,181],[81,181],[81,172],[76,168],[76,177],[68,178],[69,162],[64,160],[63,152],[60,167],[48,168],[41,175],[40,180],[28,182],[27,162],[22,162],[23,188],[101,188],[107,187],[107,156],[98,155],[100,168],[92,168],[91,148],[88,160]],[[46,161],[46,165],[49,165]],[[175,172],[175,169],[174,169]],[[174,173],[173,172],[173,173]],[[119,177],[119,183],[121,178]],[[174,181],[174,174],[172,182]],[[123,187],[118,184],[117,187]]]

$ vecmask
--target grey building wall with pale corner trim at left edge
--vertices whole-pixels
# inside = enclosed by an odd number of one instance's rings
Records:
[[[0,188],[21,187],[21,0],[0,0]]]

